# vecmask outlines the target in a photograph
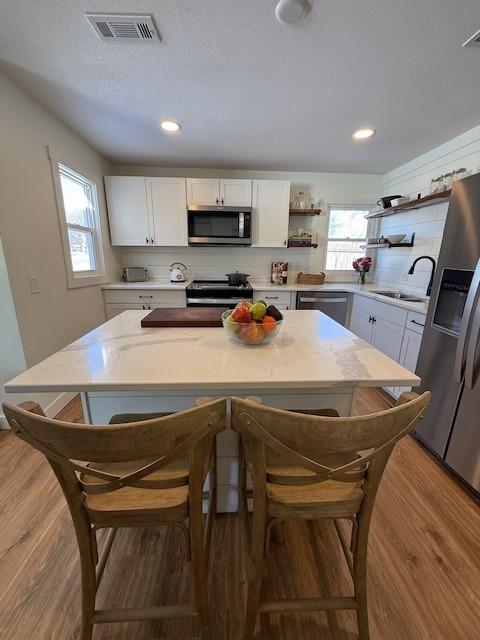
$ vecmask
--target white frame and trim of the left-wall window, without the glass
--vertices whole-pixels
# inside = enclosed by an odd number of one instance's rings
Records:
[[[63,256],[65,261],[65,270],[67,273],[67,288],[75,289],[78,287],[90,287],[106,282],[105,274],[105,258],[103,251],[103,233],[102,220],[100,215],[100,205],[98,198],[98,179],[90,175],[88,172],[52,157],[49,153],[50,163],[52,167],[53,182],[55,187],[55,199],[57,204],[58,222],[60,225],[60,234],[62,238]],[[93,227],[86,227],[67,221],[65,212],[65,203],[63,200],[63,191],[61,184],[61,173],[64,175],[71,174],[73,179],[78,179],[80,183],[88,184],[92,189],[92,221]],[[93,250],[95,256],[95,269],[88,271],[74,271],[72,254],[70,250],[70,239],[68,235],[69,229],[78,229],[79,231],[92,233]]]

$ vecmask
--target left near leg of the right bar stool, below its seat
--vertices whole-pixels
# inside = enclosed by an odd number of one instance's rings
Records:
[[[252,547],[250,558],[250,576],[248,581],[247,613],[243,640],[252,640],[255,636],[255,626],[260,603],[262,586],[263,560],[265,557],[265,529],[266,519],[262,509],[253,512],[252,518]]]

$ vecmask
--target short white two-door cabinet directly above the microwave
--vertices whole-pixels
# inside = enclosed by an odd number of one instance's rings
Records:
[[[251,207],[251,180],[187,178],[188,204]]]

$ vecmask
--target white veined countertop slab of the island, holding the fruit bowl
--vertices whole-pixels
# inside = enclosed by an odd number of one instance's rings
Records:
[[[275,341],[230,342],[223,328],[143,329],[112,320],[11,380],[9,392],[417,386],[419,378],[319,311],[286,311]]]

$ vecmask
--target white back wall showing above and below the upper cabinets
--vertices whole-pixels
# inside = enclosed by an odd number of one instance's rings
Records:
[[[245,171],[222,169],[184,169],[151,166],[114,166],[114,175],[185,176],[218,178],[252,178],[258,180],[290,180],[292,191],[305,190],[315,202],[327,204],[372,205],[382,190],[382,177],[371,174],[342,174],[284,171]],[[293,221],[294,220],[294,221]],[[319,242],[318,249],[252,249],[243,248],[134,248],[122,249],[122,265],[143,265],[150,270],[150,277],[168,278],[168,266],[180,261],[189,268],[190,278],[224,277],[232,269],[249,273],[251,277],[270,278],[270,263],[282,260],[289,263],[289,281],[294,281],[299,271],[323,270],[327,235],[326,215],[316,218],[295,218],[294,228],[312,228]],[[354,272],[351,275],[355,279]],[[334,279],[330,275],[330,280]],[[345,280],[345,277],[342,278]]]

